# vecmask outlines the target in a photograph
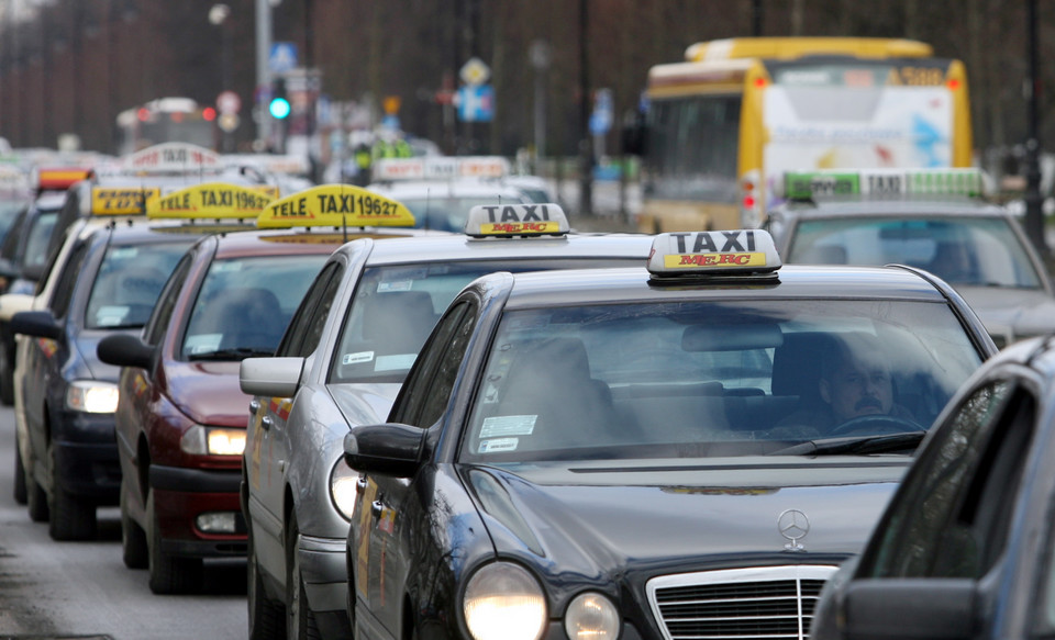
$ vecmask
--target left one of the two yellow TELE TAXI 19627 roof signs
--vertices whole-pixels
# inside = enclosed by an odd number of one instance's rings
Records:
[[[254,187],[206,182],[148,200],[146,215],[178,220],[256,218],[274,200]]]

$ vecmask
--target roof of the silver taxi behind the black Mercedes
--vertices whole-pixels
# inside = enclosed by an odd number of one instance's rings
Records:
[[[430,235],[376,243],[367,265],[420,263],[430,260],[495,260],[501,258],[641,258],[652,248],[644,234],[568,234],[565,237],[470,238],[464,235]],[[354,250],[345,246],[342,251]]]

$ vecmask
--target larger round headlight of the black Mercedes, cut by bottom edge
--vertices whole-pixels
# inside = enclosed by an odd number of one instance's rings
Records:
[[[511,562],[495,562],[473,574],[462,610],[474,640],[538,640],[546,628],[542,587]]]

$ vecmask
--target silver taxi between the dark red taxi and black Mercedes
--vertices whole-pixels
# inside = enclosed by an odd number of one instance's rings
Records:
[[[649,247],[646,236],[569,234],[556,204],[487,204],[468,213],[457,236],[338,249],[277,357],[242,361],[242,389],[255,395],[242,483],[249,636],[277,637],[285,613],[289,638],[315,629],[351,637],[344,546],[357,478],[341,462],[343,438],[384,419],[438,314],[466,283],[496,270],[635,265]]]

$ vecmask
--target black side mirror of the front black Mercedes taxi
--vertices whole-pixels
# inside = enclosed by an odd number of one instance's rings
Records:
[[[353,427],[344,437],[344,461],[362,473],[411,478],[421,467],[425,430],[386,423]]]

